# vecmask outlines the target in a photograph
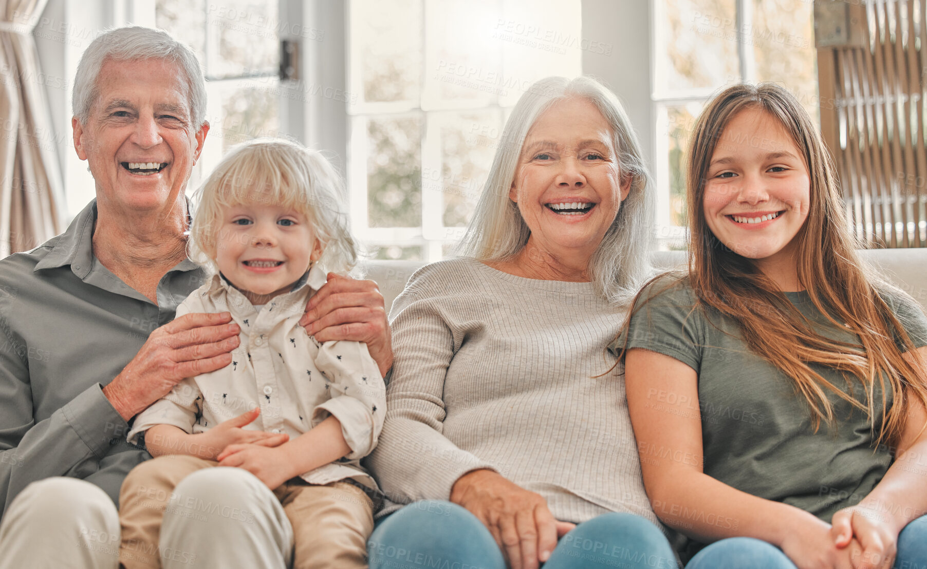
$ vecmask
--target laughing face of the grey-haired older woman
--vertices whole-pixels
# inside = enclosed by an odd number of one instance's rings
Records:
[[[509,197],[531,230],[531,247],[555,258],[587,261],[628,196],[611,127],[579,97],[555,103],[522,145]]]

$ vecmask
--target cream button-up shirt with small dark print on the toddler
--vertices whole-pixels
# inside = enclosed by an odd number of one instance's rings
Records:
[[[228,311],[241,326],[241,343],[230,365],[184,379],[142,411],[128,440],[134,443],[156,424],[203,433],[255,407],[260,407],[260,415],[245,428],[295,438],[334,415],[341,422],[349,455],[302,478],[319,485],[352,478],[376,488],[360,460],[375,448],[386,414],[379,368],[365,344],[320,344],[298,323],[309,297],[324,283],[324,272],[315,267],[294,290],[260,309],[218,274],[194,291],[177,308],[177,317]]]

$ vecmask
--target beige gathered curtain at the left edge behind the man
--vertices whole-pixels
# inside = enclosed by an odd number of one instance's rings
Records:
[[[47,0],[0,0],[0,259],[61,232],[64,186],[32,30]]]

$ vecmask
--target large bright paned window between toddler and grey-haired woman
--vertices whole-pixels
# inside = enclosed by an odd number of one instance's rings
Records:
[[[380,259],[441,259],[463,234],[527,87],[581,72],[579,0],[351,0],[353,230]]]

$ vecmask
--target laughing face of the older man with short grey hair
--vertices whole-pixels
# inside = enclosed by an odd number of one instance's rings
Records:
[[[97,201],[124,211],[171,208],[210,129],[193,125],[184,71],[162,59],[109,59],[96,92],[86,123],[72,125]]]

